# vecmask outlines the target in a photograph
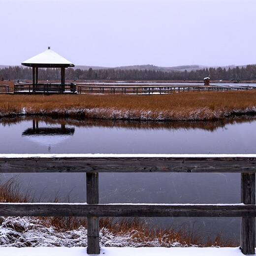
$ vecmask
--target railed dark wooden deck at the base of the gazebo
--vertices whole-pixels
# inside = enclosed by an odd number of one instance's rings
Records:
[[[76,94],[76,84],[74,83],[17,83],[14,84],[15,94]]]

